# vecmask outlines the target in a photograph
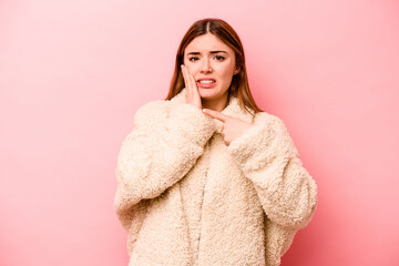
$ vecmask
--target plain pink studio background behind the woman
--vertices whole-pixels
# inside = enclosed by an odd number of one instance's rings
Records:
[[[318,184],[283,266],[399,265],[398,1],[0,2],[0,265],[127,265],[116,155],[197,19],[241,35],[253,94]]]

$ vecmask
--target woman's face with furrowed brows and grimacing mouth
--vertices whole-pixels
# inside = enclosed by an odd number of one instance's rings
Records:
[[[194,76],[203,100],[226,101],[227,90],[235,71],[234,51],[212,33],[196,37],[184,50],[184,65]],[[201,83],[201,79],[213,79],[215,83]]]

